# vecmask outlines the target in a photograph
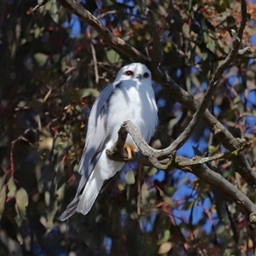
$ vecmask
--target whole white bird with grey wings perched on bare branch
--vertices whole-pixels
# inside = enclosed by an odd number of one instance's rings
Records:
[[[84,215],[90,211],[103,183],[125,165],[109,160],[106,149],[113,146],[123,122],[130,120],[149,143],[157,124],[157,107],[152,88],[151,73],[141,63],[131,63],[119,70],[113,84],[109,84],[90,111],[84,153],[79,163],[81,180],[73,201],[61,214],[61,220],[73,213]],[[137,146],[130,135],[125,147],[128,158]]]

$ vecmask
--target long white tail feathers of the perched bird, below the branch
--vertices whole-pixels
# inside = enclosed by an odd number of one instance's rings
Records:
[[[96,169],[90,175],[88,182],[84,187],[83,194],[79,200],[77,212],[81,212],[84,215],[90,211],[94,201],[96,201],[97,195],[100,193],[103,185],[103,180],[96,174]]]

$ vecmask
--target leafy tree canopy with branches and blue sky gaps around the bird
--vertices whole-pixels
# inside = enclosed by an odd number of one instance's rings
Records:
[[[244,0],[0,1],[0,254],[253,255],[255,14]],[[153,74],[154,137],[126,122],[139,152],[62,223],[90,108],[135,61]]]

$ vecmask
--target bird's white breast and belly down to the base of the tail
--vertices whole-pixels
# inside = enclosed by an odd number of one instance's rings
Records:
[[[96,165],[102,179],[113,177],[125,165],[122,162],[109,160],[106,149],[111,148],[118,138],[120,126],[130,120],[137,126],[146,142],[154,134],[157,123],[157,107],[154,100],[154,90],[151,83],[125,80],[121,86],[115,90],[110,98],[108,109],[108,127],[111,127],[111,138],[103,149],[102,156]],[[128,135],[126,143],[136,147],[133,139]]]

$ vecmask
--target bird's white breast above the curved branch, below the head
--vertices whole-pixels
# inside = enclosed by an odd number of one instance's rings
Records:
[[[154,90],[148,80],[125,80],[111,96],[109,106],[109,127],[113,127],[112,141],[116,141],[120,125],[130,120],[137,126],[147,142],[154,134],[157,122],[157,108]],[[135,146],[130,136],[126,143]]]

